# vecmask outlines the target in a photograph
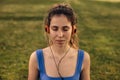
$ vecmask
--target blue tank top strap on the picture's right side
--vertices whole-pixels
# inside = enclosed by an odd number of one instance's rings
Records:
[[[76,71],[77,74],[81,72],[83,59],[84,59],[84,51],[78,50],[78,61],[77,61],[77,71]]]

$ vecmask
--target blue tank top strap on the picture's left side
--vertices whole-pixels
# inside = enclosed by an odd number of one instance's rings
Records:
[[[38,61],[38,68],[41,73],[45,72],[44,69],[44,57],[42,49],[36,50],[37,61]]]

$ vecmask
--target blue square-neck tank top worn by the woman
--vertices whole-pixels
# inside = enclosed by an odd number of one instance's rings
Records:
[[[74,75],[70,77],[62,77],[62,79],[60,77],[50,77],[46,74],[42,49],[37,50],[36,54],[37,54],[38,68],[40,69],[39,80],[80,80],[81,67],[84,58],[83,50],[78,50],[77,64]]]

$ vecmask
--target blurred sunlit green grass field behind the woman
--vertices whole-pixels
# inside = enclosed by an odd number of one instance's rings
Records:
[[[120,3],[92,0],[0,1],[0,80],[27,80],[31,53],[47,45],[43,19],[55,3],[77,13],[80,48],[91,57],[91,80],[120,79]]]

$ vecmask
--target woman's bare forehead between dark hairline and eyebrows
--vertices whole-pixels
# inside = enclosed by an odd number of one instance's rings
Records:
[[[51,18],[50,26],[71,26],[71,22],[65,15],[54,15]]]

